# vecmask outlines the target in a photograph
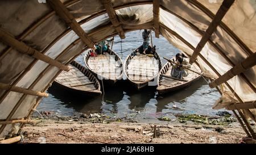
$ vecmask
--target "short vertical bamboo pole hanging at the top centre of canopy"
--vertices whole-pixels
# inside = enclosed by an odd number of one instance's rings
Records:
[[[154,27],[155,27],[155,37],[159,38],[159,0],[153,1],[153,15],[154,15]]]

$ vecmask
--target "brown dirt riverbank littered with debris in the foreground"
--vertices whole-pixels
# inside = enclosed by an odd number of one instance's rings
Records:
[[[238,123],[218,126],[174,122],[92,123],[61,119],[40,119],[36,125],[28,124],[23,135],[20,143],[240,143],[246,136]]]

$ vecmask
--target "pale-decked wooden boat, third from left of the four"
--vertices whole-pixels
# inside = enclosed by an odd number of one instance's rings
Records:
[[[123,72],[127,79],[139,90],[144,86],[156,86],[159,70],[162,68],[162,62],[158,53],[154,56],[143,55],[136,52],[135,49],[125,59]],[[154,82],[155,81],[155,82]]]

